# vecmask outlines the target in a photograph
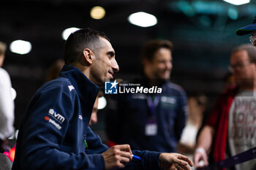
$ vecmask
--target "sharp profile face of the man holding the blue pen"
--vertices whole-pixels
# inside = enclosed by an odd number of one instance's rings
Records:
[[[114,72],[119,67],[115,58],[115,51],[107,39],[100,38],[100,47],[94,51],[94,61],[91,64],[91,79],[97,85],[113,79]]]

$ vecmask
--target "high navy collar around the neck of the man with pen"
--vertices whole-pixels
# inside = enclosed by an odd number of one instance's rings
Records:
[[[94,105],[94,101],[99,93],[99,87],[91,82],[83,72],[75,66],[64,65],[59,76],[69,79],[78,96],[86,103]]]

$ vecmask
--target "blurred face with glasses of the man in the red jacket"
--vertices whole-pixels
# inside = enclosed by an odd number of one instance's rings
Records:
[[[255,63],[249,61],[246,50],[233,53],[230,57],[230,65],[233,69],[233,76],[238,85],[246,85],[255,77]]]

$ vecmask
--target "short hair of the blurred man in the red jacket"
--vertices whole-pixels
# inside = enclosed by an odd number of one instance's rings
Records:
[[[245,50],[249,55],[249,60],[256,63],[256,47],[251,44],[239,45],[232,50],[232,54],[238,51]]]

